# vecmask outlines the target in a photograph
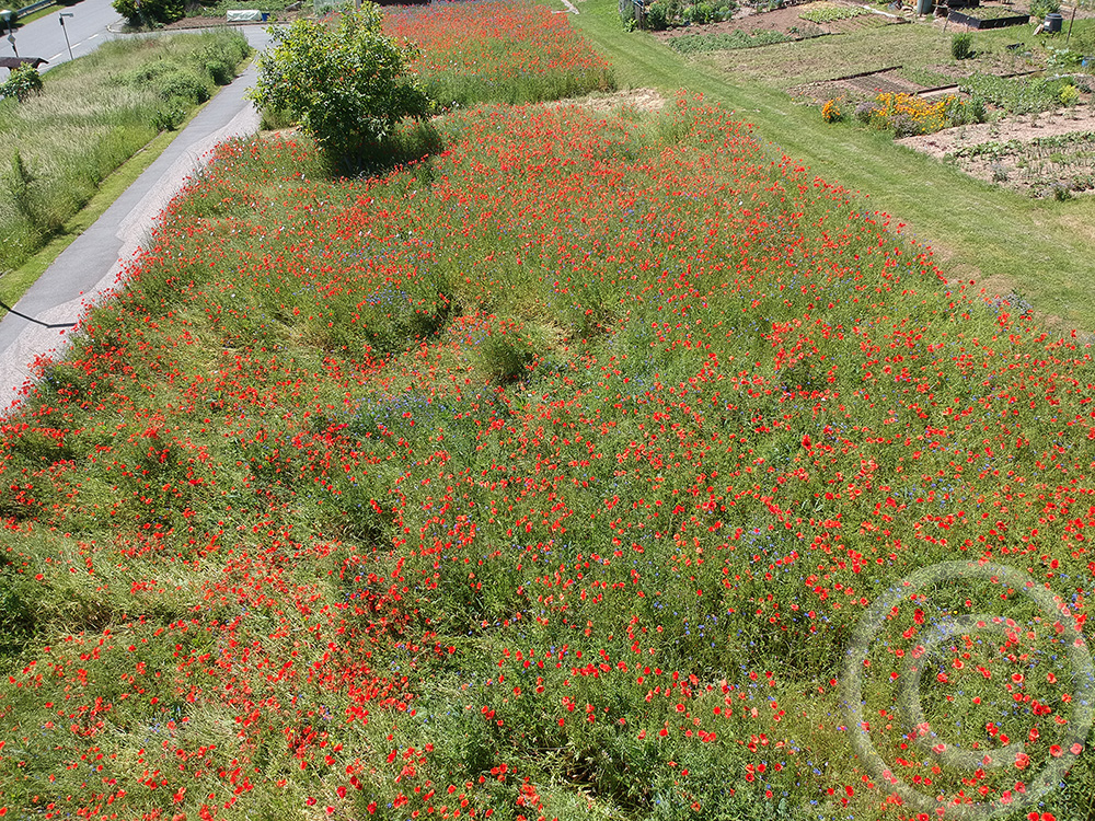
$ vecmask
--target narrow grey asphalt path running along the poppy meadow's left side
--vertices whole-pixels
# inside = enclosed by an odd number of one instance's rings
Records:
[[[240,31],[255,49],[262,50],[269,43],[263,26],[241,26]],[[61,252],[13,308],[41,323],[64,324],[78,322],[91,305],[106,299],[119,286],[125,263],[138,253],[164,206],[193,175],[200,173],[209,151],[219,142],[258,130],[258,113],[244,99],[255,78],[252,62],[178,132],[91,228]],[[30,390],[34,362],[62,355],[66,335],[72,333],[79,331],[46,328],[4,313],[0,319],[0,417],[10,415]]]

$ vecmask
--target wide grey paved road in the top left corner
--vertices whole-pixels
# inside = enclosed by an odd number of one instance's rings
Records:
[[[22,0],[0,0],[0,8],[18,8]],[[71,14],[65,18],[65,27],[60,25],[60,14]],[[110,28],[117,30],[122,18],[111,5],[111,0],[82,0],[72,5],[55,5],[51,13],[35,20],[33,23],[16,28],[14,44],[11,37],[0,38],[0,57],[43,57],[49,60],[39,71],[46,71],[50,66],[68,62],[68,46],[65,34],[72,44],[72,56],[80,57],[99,48],[104,41],[114,37]],[[3,72],[7,74],[7,72]]]

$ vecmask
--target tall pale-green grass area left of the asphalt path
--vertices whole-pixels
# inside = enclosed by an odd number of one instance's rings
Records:
[[[49,71],[41,95],[0,102],[0,273],[66,233],[99,185],[230,81],[247,50],[231,32],[117,41]]]

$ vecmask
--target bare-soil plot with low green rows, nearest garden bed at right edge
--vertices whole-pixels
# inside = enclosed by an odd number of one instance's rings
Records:
[[[950,128],[898,142],[1031,197],[1068,198],[1095,190],[1095,111],[1091,106],[1037,119],[1012,117]]]

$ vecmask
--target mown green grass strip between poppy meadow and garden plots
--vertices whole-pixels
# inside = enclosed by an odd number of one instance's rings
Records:
[[[867,33],[869,54],[849,49],[853,35],[832,42],[811,41],[731,53],[727,59],[685,60],[643,33],[624,32],[609,0],[587,0],[575,18],[590,41],[612,62],[621,88],[679,89],[736,111],[754,132],[829,182],[868,197],[867,207],[894,215],[904,229],[935,250],[953,276],[976,279],[992,292],[1022,292],[1047,316],[1069,326],[1095,331],[1095,198],[1067,203],[1035,201],[972,181],[880,134],[837,126],[823,132],[820,115],[795,105],[765,77],[789,85],[795,49],[833,48],[827,58],[834,76],[835,48],[852,55],[844,73],[911,61],[912,55],[937,54],[947,61],[949,35],[926,26],[890,26]],[[1077,26],[1079,27],[1079,26]],[[988,44],[981,46],[981,43]],[[975,48],[1001,48],[1007,33],[975,37]],[[902,48],[903,50],[897,50]],[[806,53],[798,53],[805,55]],[[895,55],[900,54],[900,58]],[[805,59],[805,58],[804,58]],[[766,72],[760,61],[768,60]],[[753,61],[750,65],[750,61]],[[926,59],[924,60],[926,62]],[[810,69],[814,79],[826,70]],[[799,78],[805,77],[799,73]],[[823,134],[823,139],[819,136]]]

